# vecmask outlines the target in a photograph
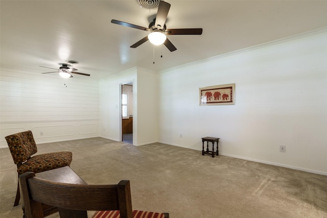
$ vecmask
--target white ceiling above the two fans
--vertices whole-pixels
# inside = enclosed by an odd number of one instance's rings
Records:
[[[134,66],[165,70],[327,26],[327,1],[166,2],[168,29],[203,28],[202,35],[169,35],[174,52],[149,41],[132,49],[148,32],[110,22],[148,27],[156,10],[135,0],[1,0],[1,66],[41,74],[48,70],[39,66],[58,68],[70,59],[98,80]]]

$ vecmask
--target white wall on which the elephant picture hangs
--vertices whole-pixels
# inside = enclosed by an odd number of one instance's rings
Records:
[[[219,137],[222,155],[327,175],[326,61],[320,30],[161,72],[159,141]],[[229,83],[235,105],[199,106],[200,87]]]

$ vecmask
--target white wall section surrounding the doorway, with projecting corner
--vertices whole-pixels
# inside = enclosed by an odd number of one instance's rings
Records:
[[[157,142],[158,107],[157,75],[133,67],[100,82],[101,131],[104,138],[121,141],[121,84],[133,82],[133,144]]]

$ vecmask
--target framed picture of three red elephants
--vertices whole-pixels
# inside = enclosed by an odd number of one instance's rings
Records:
[[[235,105],[235,83],[200,88],[200,105]]]

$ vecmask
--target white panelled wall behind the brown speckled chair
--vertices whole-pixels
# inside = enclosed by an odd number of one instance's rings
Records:
[[[8,147],[5,136],[26,130],[36,143],[96,137],[99,82],[2,67],[0,112],[0,148]]]

